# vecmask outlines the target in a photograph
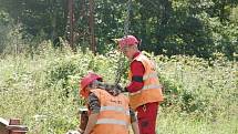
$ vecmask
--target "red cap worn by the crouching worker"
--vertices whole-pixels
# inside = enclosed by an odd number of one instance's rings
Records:
[[[86,96],[86,92],[85,92],[85,87],[91,84],[94,80],[102,80],[102,76],[101,75],[97,75],[96,73],[94,72],[90,72],[86,76],[84,76],[82,80],[81,80],[81,90],[80,90],[80,94],[82,96]]]

